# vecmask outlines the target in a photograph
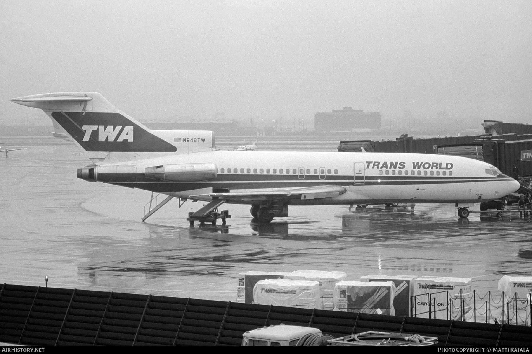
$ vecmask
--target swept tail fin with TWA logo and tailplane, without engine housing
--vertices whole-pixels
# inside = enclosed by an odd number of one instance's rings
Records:
[[[86,151],[177,151],[177,147],[167,139],[158,137],[97,92],[57,92],[18,97],[11,101],[43,109]]]

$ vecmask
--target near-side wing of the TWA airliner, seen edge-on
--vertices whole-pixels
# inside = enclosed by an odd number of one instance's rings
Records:
[[[285,199],[299,197],[301,199],[334,198],[346,192],[342,186],[316,186],[293,189],[269,189],[264,191],[242,191],[242,192],[222,192],[193,195],[194,197],[213,197],[219,199],[240,199],[240,200],[260,200],[260,199]]]

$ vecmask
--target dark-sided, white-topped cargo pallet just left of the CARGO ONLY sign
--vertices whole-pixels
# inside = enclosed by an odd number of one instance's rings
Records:
[[[394,282],[395,316],[410,316],[410,297],[414,294],[414,279],[417,275],[370,274],[360,277],[363,282]]]

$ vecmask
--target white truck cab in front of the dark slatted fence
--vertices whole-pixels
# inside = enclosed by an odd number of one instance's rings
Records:
[[[296,345],[305,334],[321,334],[318,328],[274,325],[243,334],[242,345]]]

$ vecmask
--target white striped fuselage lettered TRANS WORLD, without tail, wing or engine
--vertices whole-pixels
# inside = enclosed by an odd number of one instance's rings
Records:
[[[213,163],[215,178],[199,182],[145,178],[147,167],[194,163]],[[287,202],[290,205],[479,203],[501,198],[519,188],[516,180],[485,162],[401,153],[207,151],[99,165],[94,180],[182,198],[217,190],[246,192],[325,185],[343,186],[347,190],[333,198],[292,199]],[[252,204],[242,198],[228,203]]]

